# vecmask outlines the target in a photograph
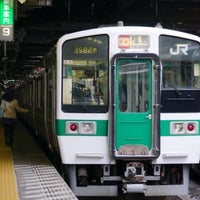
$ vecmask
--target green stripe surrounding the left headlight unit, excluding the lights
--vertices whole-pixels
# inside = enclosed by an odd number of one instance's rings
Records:
[[[67,121],[92,121],[92,120],[56,120],[56,134],[59,136],[80,136],[80,134],[66,134],[65,133],[65,124]],[[81,134],[81,136],[107,136],[108,135],[108,121],[107,120],[94,120],[96,122],[96,134]]]

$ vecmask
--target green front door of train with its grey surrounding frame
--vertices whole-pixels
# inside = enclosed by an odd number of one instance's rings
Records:
[[[154,54],[113,59],[114,155],[155,158],[160,152],[160,66]]]

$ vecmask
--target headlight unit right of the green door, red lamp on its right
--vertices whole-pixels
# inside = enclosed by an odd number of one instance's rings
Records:
[[[170,134],[198,134],[198,122],[171,122]]]

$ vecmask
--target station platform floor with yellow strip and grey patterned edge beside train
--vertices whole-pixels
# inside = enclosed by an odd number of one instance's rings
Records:
[[[19,120],[12,148],[4,144],[3,135],[0,122],[1,200],[77,200]]]

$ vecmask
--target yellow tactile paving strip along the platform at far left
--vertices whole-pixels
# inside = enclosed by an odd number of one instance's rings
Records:
[[[19,200],[12,152],[4,144],[3,130],[0,123],[0,200]]]

